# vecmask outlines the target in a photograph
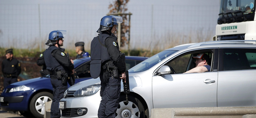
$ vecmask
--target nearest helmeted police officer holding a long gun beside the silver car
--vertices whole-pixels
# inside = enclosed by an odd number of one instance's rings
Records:
[[[119,18],[118,21],[116,18]],[[118,107],[118,99],[121,92],[121,79],[125,79],[125,60],[120,56],[121,52],[117,43],[117,23],[122,23],[122,17],[104,16],[100,21],[100,33],[91,42],[90,73],[93,78],[100,76],[100,107],[99,118],[115,118]],[[114,76],[114,70],[118,70],[121,77]]]

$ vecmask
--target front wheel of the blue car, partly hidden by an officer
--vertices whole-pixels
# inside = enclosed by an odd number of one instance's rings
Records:
[[[36,118],[44,118],[45,114],[45,102],[52,102],[53,95],[49,92],[39,92],[30,101],[30,112]]]

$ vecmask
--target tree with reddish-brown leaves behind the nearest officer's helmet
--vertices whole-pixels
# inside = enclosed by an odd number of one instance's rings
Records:
[[[113,2],[113,4],[110,4],[108,6],[109,14],[111,13],[124,13],[128,9],[126,8],[127,3],[129,0],[116,0]],[[123,17],[123,23],[121,23],[121,44],[119,44],[120,47],[124,47],[125,44],[128,43],[127,36],[129,29],[129,21],[127,20],[127,15],[121,15]]]

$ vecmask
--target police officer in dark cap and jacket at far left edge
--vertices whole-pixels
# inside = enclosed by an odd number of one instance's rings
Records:
[[[17,77],[20,74],[21,67],[20,62],[13,58],[12,49],[8,49],[6,52],[6,59],[2,62],[2,72],[4,74],[4,88],[14,82],[18,82]]]

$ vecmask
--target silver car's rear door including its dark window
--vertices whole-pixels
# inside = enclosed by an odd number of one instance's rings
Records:
[[[256,106],[256,48],[220,48],[218,107]]]

